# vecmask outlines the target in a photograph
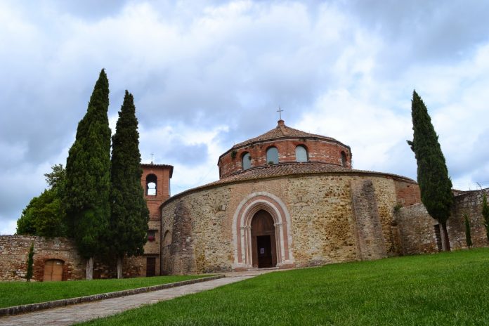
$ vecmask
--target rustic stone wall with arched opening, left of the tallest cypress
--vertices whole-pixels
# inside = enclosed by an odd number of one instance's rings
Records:
[[[48,259],[63,261],[63,280],[79,280],[85,277],[85,261],[79,256],[71,240],[63,237],[1,235],[0,280],[25,280],[27,256],[33,242],[34,275],[32,280],[43,280],[44,263]]]

